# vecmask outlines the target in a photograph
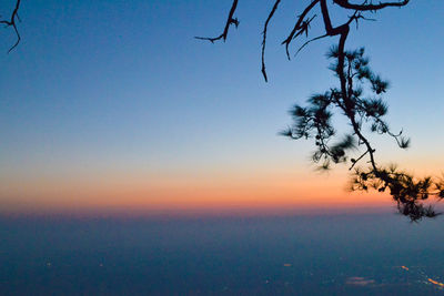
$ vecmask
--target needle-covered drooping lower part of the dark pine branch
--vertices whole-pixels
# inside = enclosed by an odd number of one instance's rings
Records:
[[[382,95],[386,92],[389,83],[370,69],[363,48],[344,51],[341,59],[339,48],[333,47],[327,57],[333,59],[330,69],[340,79],[341,86],[313,94],[307,100],[309,106],[296,104],[291,110],[294,123],[282,134],[294,140],[314,139],[316,151],[312,160],[321,163],[320,167],[323,170],[329,170],[332,163],[350,161],[350,170],[354,169],[351,190],[387,190],[397,203],[400,213],[412,221],[437,216],[438,213],[432,206],[425,206],[423,202],[430,196],[438,200],[444,197],[443,180],[433,180],[430,176],[416,178],[394,165],[380,166],[375,160],[376,150],[365,135],[367,126],[370,132],[393,137],[401,149],[408,147],[410,140],[402,135],[402,131],[393,133],[383,119],[387,106]],[[341,111],[352,126],[352,131],[342,139],[337,139],[331,121],[332,116],[339,113],[335,111]],[[361,152],[359,157],[349,156],[361,146],[364,146],[364,152]],[[370,167],[355,167],[366,156]]]

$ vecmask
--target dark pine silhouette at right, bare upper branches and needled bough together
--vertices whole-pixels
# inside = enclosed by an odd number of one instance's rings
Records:
[[[303,9],[290,34],[282,41],[282,44],[285,45],[286,55],[290,59],[290,45],[296,38],[309,35],[310,25],[316,17],[312,14],[312,11],[319,6],[324,33],[305,41],[296,53],[315,40],[337,35],[337,44],[329,51],[327,57],[333,60],[330,69],[340,83],[339,86],[331,88],[324,93],[312,95],[307,101],[309,106],[295,105],[291,110],[294,123],[281,134],[290,139],[314,139],[316,151],[312,160],[315,163],[321,163],[321,169],[327,170],[332,163],[350,162],[350,170],[353,170],[351,190],[387,191],[396,202],[398,212],[416,222],[423,217],[440,215],[424,202],[430,196],[435,196],[438,200],[444,198],[444,180],[430,176],[416,178],[394,165],[382,166],[376,163],[376,150],[365,135],[365,126],[369,126],[373,133],[393,137],[401,149],[408,147],[410,140],[402,135],[402,131],[393,133],[383,119],[387,112],[387,106],[382,95],[386,92],[389,83],[370,69],[363,48],[353,51],[345,49],[352,23],[357,25],[361,20],[372,20],[367,17],[370,13],[391,7],[401,8],[408,2],[408,0],[403,0],[373,3],[371,0],[364,0],[356,4],[349,0],[333,0],[332,4],[351,12],[347,20],[336,27],[332,24],[326,0],[312,0]],[[280,3],[281,0],[274,1],[262,33],[262,74],[265,81],[268,81],[265,70],[266,31]],[[239,25],[239,20],[234,17],[236,7],[238,0],[233,0],[224,30],[220,35],[215,38],[196,37],[196,39],[208,40],[212,43],[218,40],[225,41],[231,24]],[[342,113],[352,126],[352,131],[340,141],[337,141],[336,131],[331,122],[331,118],[337,112]],[[336,141],[334,142],[334,140]],[[351,152],[360,147],[364,149],[357,157],[349,156]],[[370,166],[366,169],[359,167],[357,163],[364,160],[367,160]]]

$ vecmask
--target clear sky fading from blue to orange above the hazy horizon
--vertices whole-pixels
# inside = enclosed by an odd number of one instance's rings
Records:
[[[306,2],[282,1],[270,24],[269,83],[260,44],[271,2],[241,0],[239,29],[215,44],[194,37],[221,32],[228,0],[22,2],[21,43],[8,54],[12,31],[0,40],[0,212],[392,205],[386,195],[347,193],[346,165],[321,174],[313,143],[278,135],[294,103],[335,84],[324,57],[335,39],[291,61],[280,45]],[[407,151],[374,137],[380,162],[420,175],[444,166],[443,13],[443,1],[413,0],[361,22],[347,40],[391,81],[387,120],[412,137]]]

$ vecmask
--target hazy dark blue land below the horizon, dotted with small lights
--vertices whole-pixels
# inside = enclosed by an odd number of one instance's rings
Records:
[[[0,294],[442,295],[442,223],[0,216]]]

